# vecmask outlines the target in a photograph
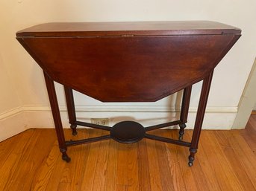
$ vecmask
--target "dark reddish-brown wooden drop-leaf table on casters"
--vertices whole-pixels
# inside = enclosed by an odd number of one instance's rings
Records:
[[[67,146],[113,138],[134,143],[143,137],[190,148],[193,165],[213,69],[240,38],[241,30],[218,22],[46,23],[16,33],[16,39],[43,68],[64,161]],[[182,140],[192,85],[203,80],[191,142]],[[77,126],[110,135],[65,140],[54,81],[64,85],[72,134]],[[154,126],[122,121],[113,127],[79,121],[72,89],[102,102],[154,102],[184,89],[179,120]],[[179,138],[148,132],[179,125]]]

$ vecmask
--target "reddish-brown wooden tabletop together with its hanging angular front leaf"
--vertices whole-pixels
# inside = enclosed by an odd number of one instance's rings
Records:
[[[199,82],[240,37],[240,30],[214,22],[150,23],[134,22],[121,36],[119,28],[131,23],[111,30],[115,23],[45,24],[16,36],[52,80],[103,102],[156,101]],[[107,28],[99,35],[95,25]]]

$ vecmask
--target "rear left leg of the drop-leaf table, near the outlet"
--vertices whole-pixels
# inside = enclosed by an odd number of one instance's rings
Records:
[[[72,129],[72,135],[77,135],[78,132],[76,131],[76,116],[75,116],[75,103],[74,103],[74,96],[72,88],[64,85],[65,96],[66,96],[66,107],[69,114],[69,123],[70,128]]]

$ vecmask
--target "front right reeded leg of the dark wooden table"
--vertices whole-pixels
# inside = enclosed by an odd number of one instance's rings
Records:
[[[205,109],[207,105],[207,99],[210,91],[210,82],[212,80],[212,77],[213,77],[213,71],[210,73],[209,76],[207,76],[203,80],[202,91],[201,91],[200,100],[199,100],[199,108],[196,114],[196,122],[195,122],[192,140],[191,140],[191,146],[190,146],[190,156],[189,156],[189,163],[188,163],[189,166],[193,165],[193,161],[195,160],[195,154],[198,149],[199,137],[202,129],[202,123],[205,117]]]

